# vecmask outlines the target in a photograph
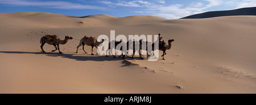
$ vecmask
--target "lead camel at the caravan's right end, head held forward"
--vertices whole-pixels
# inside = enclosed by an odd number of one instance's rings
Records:
[[[170,50],[170,49],[171,49],[171,47],[172,47],[172,42],[174,42],[174,40],[168,40],[168,45],[167,45],[167,44],[165,44],[165,45],[159,45],[159,50],[160,50],[160,51],[163,51],[163,55],[162,55],[163,60],[166,60],[166,59],[164,59],[164,55],[166,55],[166,51],[167,51],[167,50]],[[164,43],[164,41],[163,41],[163,43]],[[154,47],[155,47],[155,43],[152,43],[152,51],[154,51]],[[150,56],[150,55],[149,55],[149,56]]]

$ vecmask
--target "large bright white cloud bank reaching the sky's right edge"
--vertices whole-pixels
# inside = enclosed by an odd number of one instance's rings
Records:
[[[128,3],[131,4],[128,5]],[[167,19],[179,19],[181,17],[200,14],[209,11],[216,7],[253,7],[256,6],[255,0],[201,0],[192,2],[190,5],[181,5],[176,3],[174,5],[167,5],[165,0],[156,1],[125,1],[118,0],[118,3],[112,3],[105,1],[105,4],[112,4],[115,6],[130,6],[130,7],[143,7],[139,11],[130,11],[141,14],[155,15],[165,17]],[[119,4],[119,5],[118,5]],[[122,5],[121,5],[122,4]]]

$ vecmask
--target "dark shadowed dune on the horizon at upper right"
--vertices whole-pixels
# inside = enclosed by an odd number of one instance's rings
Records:
[[[256,7],[240,8],[237,10],[229,10],[229,11],[204,12],[202,14],[183,17],[181,19],[202,19],[202,18],[209,18],[209,17],[240,16],[240,15],[256,15]]]

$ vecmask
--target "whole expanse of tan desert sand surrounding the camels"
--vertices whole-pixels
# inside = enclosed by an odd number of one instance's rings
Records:
[[[0,93],[256,93],[256,16],[167,20],[157,16],[0,14]],[[166,60],[90,55],[84,36],[174,39]],[[63,54],[40,38],[71,36]],[[77,40],[76,40],[77,39]],[[97,49],[94,48],[94,54]],[[162,51],[160,51],[162,54]]]

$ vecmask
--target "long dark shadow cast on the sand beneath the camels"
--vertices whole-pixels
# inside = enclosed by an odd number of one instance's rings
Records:
[[[74,59],[77,61],[96,61],[96,62],[104,62],[104,61],[117,61],[117,60],[124,60],[122,57],[116,57],[113,58],[113,56],[103,56],[103,55],[88,55],[88,54],[75,54],[75,53],[65,53],[65,54],[59,54],[57,52],[24,52],[24,51],[0,51],[0,53],[6,53],[6,54],[38,54],[38,55],[46,55],[46,56],[52,56],[52,57],[62,57],[62,58],[68,58],[68,59]],[[126,57],[128,60],[133,60],[130,57]],[[135,58],[139,60],[140,58]]]

